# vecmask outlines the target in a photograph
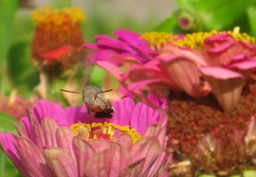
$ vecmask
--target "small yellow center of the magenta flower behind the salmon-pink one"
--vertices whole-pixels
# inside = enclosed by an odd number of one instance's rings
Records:
[[[165,44],[173,42],[177,37],[171,33],[158,33],[156,31],[151,31],[149,33],[142,34],[140,38],[144,39],[152,50],[159,51]]]

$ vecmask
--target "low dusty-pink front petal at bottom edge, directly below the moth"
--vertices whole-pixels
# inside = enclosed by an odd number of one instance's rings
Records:
[[[104,159],[107,155],[109,155],[109,149],[95,155],[85,166],[85,175],[88,177],[109,177],[107,164]]]

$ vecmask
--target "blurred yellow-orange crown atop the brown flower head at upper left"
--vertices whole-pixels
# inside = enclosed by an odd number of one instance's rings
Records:
[[[54,32],[69,30],[70,25],[75,26],[85,20],[82,10],[78,7],[58,10],[50,6],[37,9],[30,15],[37,28]]]

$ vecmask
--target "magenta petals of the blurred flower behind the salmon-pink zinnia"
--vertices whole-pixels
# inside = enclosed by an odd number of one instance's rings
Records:
[[[96,35],[96,44],[85,44],[85,48],[96,50],[88,55],[89,63],[97,61],[109,61],[116,65],[122,65],[124,61],[111,60],[112,55],[120,55],[121,58],[133,58],[137,62],[146,63],[158,53],[150,49],[147,42],[141,39],[141,34],[129,30],[116,30],[113,32],[118,39],[108,35]],[[86,61],[88,62],[88,61]]]

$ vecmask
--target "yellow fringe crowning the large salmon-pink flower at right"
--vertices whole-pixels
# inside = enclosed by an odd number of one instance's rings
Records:
[[[204,40],[207,37],[216,35],[218,33],[229,33],[234,37],[236,41],[243,41],[250,44],[255,44],[255,39],[253,37],[250,37],[249,35],[247,35],[247,33],[240,33],[239,30],[239,27],[235,27],[233,31],[218,32],[217,30],[212,30],[210,32],[196,32],[187,34],[185,35],[184,39],[179,39],[173,43],[179,46],[189,47],[202,51],[204,47]]]

